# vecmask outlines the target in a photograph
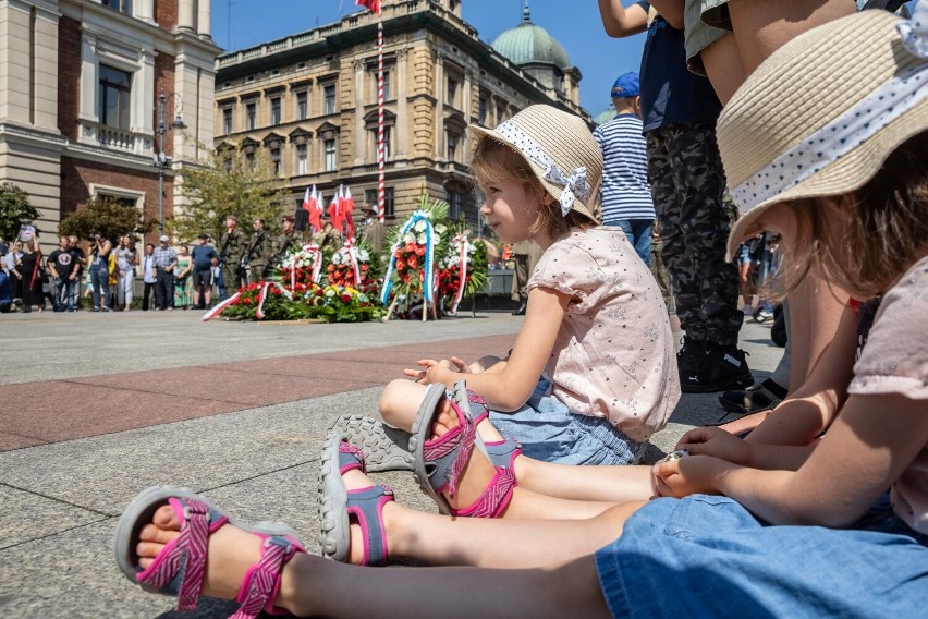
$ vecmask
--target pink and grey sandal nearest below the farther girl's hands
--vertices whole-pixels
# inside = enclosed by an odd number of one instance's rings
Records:
[[[496,474],[487,488],[473,505],[463,508],[452,508],[442,493],[453,496],[457,490],[457,480],[467,465],[474,446],[477,444],[477,423],[488,413],[486,403],[474,395],[472,400],[464,380],[459,380],[448,398],[444,387],[430,385],[426,390],[422,406],[413,422],[413,433],[410,438],[410,450],[415,457],[413,476],[419,488],[431,497],[441,513],[464,515],[471,518],[496,518],[500,515],[512,499],[516,486],[515,472],[512,462],[518,454],[518,447],[506,441],[496,444],[501,447],[503,456],[491,459]],[[448,398],[451,410],[457,415],[459,425],[444,435],[429,439],[431,426],[438,405]],[[472,411],[476,409],[476,420]],[[508,458],[506,465],[497,462]]]

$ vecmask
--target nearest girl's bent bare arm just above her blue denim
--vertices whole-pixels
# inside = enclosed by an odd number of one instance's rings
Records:
[[[772,524],[845,526],[886,493],[928,442],[928,401],[852,396],[795,472],[694,456],[655,468],[666,496],[724,494]]]

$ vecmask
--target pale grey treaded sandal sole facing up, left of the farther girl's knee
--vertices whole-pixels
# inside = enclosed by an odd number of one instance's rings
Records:
[[[415,471],[407,432],[364,415],[342,415],[331,430],[341,433],[349,442],[364,451],[364,463],[370,473]]]

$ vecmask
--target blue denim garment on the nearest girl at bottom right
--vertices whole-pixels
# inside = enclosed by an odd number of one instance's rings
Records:
[[[613,617],[924,617],[928,536],[887,497],[834,530],[769,526],[694,495],[638,510],[596,569]]]

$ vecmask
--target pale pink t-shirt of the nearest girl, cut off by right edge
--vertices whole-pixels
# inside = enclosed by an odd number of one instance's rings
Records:
[[[854,366],[848,393],[899,393],[928,400],[928,256],[883,296],[867,345]],[[913,530],[928,534],[928,446],[893,484],[893,510]]]

